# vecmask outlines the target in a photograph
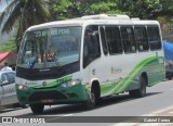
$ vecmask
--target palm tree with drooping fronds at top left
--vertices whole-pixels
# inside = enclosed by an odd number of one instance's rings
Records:
[[[17,26],[17,46],[29,26],[48,22],[51,17],[49,0],[0,0],[2,3],[8,3],[0,16],[2,33],[9,33]]]

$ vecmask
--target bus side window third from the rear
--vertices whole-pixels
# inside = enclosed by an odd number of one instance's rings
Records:
[[[125,53],[136,52],[133,28],[130,26],[121,26],[121,38]]]

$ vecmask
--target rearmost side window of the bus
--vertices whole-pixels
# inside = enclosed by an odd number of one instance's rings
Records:
[[[149,41],[150,50],[161,49],[161,40],[160,40],[158,26],[148,26],[147,34],[148,34],[148,41]]]

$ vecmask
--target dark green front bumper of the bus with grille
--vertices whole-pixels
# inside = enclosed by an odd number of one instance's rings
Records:
[[[17,90],[17,98],[19,100],[21,104],[34,104],[34,103],[42,103],[42,100],[48,99],[48,97],[44,97],[51,92],[57,94],[61,93],[61,96],[64,96],[64,98],[55,99],[55,98],[49,98],[52,99],[52,104],[58,104],[58,103],[72,103],[72,102],[81,102],[89,99],[89,93],[84,85],[76,85],[72,87],[55,87],[55,88],[29,88],[28,90]],[[32,94],[36,94],[37,92],[41,92],[42,97],[38,96],[40,100],[37,101],[30,101],[30,97]],[[35,96],[37,98],[37,96]],[[50,103],[51,104],[51,103]]]

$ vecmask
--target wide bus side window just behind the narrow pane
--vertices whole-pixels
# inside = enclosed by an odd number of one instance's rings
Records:
[[[119,28],[117,26],[106,26],[105,33],[109,53],[122,53],[122,45]]]

